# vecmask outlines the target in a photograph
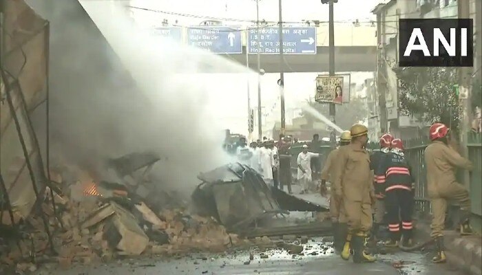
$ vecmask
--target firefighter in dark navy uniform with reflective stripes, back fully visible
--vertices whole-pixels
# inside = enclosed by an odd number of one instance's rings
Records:
[[[384,189],[385,207],[388,212],[390,239],[385,245],[395,248],[402,237],[404,247],[412,246],[413,183],[412,169],[404,156],[404,144],[400,139],[392,140],[392,150],[379,164],[383,177],[379,186]],[[383,192],[383,191],[382,191]],[[401,228],[400,219],[401,218]]]

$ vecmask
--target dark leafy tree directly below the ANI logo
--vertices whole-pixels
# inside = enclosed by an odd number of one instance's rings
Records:
[[[426,122],[442,122],[457,131],[459,102],[457,69],[452,67],[406,67],[396,71],[402,115]]]

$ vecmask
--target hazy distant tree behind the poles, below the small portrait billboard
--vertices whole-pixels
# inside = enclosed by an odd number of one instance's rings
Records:
[[[308,101],[308,104],[315,108],[319,113],[330,118],[328,104],[319,103],[315,101]],[[364,120],[368,116],[368,110],[361,98],[350,98],[349,103],[344,103],[337,105],[335,121],[336,124],[342,129],[350,129],[350,127],[358,122],[359,120]],[[311,113],[306,111],[302,112],[302,116],[308,121],[317,121]]]

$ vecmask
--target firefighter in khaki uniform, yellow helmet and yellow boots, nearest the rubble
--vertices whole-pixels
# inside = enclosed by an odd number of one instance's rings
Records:
[[[375,257],[365,250],[365,239],[372,227],[372,175],[370,155],[365,147],[368,143],[368,129],[362,124],[350,128],[351,142],[339,149],[335,162],[333,187],[335,195],[342,197],[343,213],[348,225],[348,234],[341,256],[350,259],[353,250],[353,262],[374,262]]]

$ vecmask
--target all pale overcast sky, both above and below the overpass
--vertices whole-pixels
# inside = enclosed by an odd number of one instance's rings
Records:
[[[335,21],[350,23],[359,19],[361,22],[373,20],[371,10],[381,3],[381,0],[339,0],[335,4]],[[283,0],[283,21],[302,22],[303,20],[328,21],[328,5],[322,5],[319,0]],[[243,21],[256,20],[255,0],[131,0],[130,5],[158,10],[151,12],[133,10],[134,18],[140,25],[155,26],[162,25],[167,19],[170,24],[181,26],[199,25],[207,20],[207,17],[220,19],[227,24],[251,25],[248,22],[229,21],[236,19]],[[278,20],[278,1],[259,1],[260,20]],[[198,17],[191,17],[196,15]],[[177,22],[177,23],[176,23]],[[336,34],[335,34],[336,35]],[[300,105],[300,102],[313,97],[315,91],[315,76],[311,74],[286,74],[285,94],[286,109],[293,109]],[[359,75],[359,74],[358,74]],[[370,76],[370,74],[368,74]],[[357,80],[356,75],[352,81],[362,81],[367,77],[363,74]],[[269,120],[279,120],[280,104],[279,89],[276,80],[279,74],[266,74],[262,77],[262,106],[269,113]],[[247,129],[247,78],[240,76],[203,76],[205,85],[208,87],[226,87],[227,89],[212,89],[210,109],[216,113],[220,123],[235,132],[245,133]],[[257,102],[256,77],[251,76],[251,107]],[[228,91],[229,90],[229,91]],[[287,122],[289,123],[289,122]],[[270,126],[271,128],[271,126]]]

